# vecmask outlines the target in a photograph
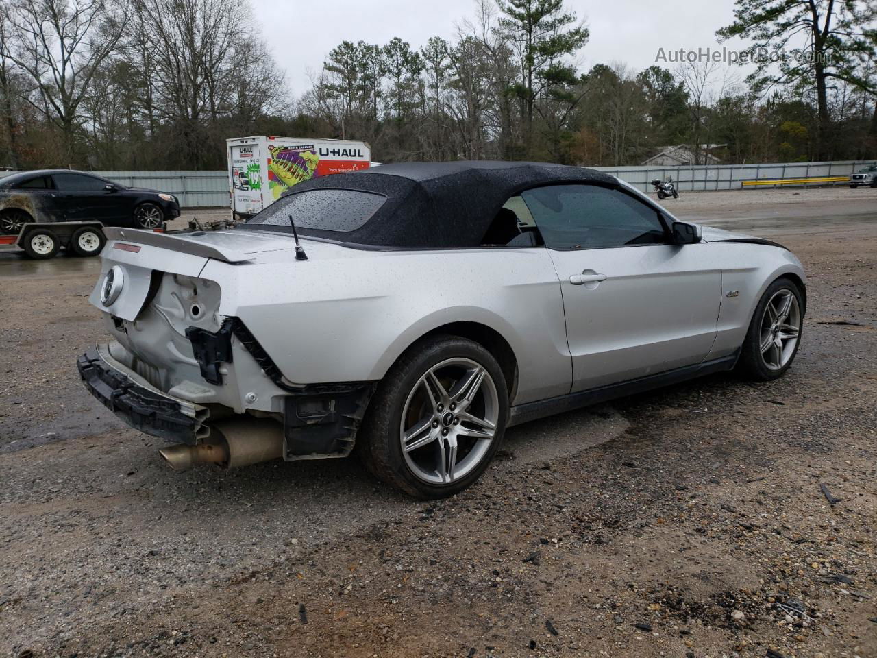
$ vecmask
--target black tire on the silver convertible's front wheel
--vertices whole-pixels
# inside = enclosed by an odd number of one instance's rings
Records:
[[[777,318],[776,311],[782,311],[782,303],[789,295],[792,301],[788,311],[784,317],[781,315]],[[767,286],[752,314],[740,353],[738,370],[759,382],[768,382],[785,375],[792,361],[795,361],[801,345],[803,319],[804,300],[797,283],[781,277]],[[797,330],[793,332],[795,325]],[[787,338],[784,340],[783,336]],[[778,340],[781,344],[779,348],[776,347]]]

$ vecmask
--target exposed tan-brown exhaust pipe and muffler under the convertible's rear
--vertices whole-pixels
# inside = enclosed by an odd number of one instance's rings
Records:
[[[273,420],[228,420],[210,429],[208,443],[163,447],[159,454],[175,470],[196,464],[240,468],[283,456],[283,426]]]

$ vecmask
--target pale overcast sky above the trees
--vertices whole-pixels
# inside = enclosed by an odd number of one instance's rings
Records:
[[[296,97],[310,87],[308,71],[316,73],[343,40],[383,45],[400,37],[419,47],[431,36],[453,39],[460,20],[474,16],[474,0],[253,0],[253,6]],[[590,28],[582,70],[612,61],[641,70],[655,63],[661,47],[721,48],[715,32],[733,18],[733,0],[567,0],[566,6]]]

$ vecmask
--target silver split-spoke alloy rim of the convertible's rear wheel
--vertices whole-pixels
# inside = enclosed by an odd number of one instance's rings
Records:
[[[418,479],[450,484],[476,468],[496,439],[496,383],[467,358],[429,368],[405,400],[399,439],[405,463]]]

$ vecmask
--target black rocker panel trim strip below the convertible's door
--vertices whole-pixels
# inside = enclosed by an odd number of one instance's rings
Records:
[[[509,413],[508,426],[520,425],[528,423],[538,418],[546,418],[553,416],[555,413],[563,411],[573,411],[581,409],[591,404],[600,404],[613,400],[617,397],[634,395],[643,393],[646,390],[660,388],[669,384],[685,382],[689,379],[695,379],[702,375],[710,375],[712,373],[724,372],[731,370],[737,363],[739,350],[731,356],[725,356],[721,359],[712,361],[702,361],[694,366],[686,366],[685,368],[676,368],[657,375],[649,375],[640,377],[629,382],[611,384],[610,386],[601,386],[597,389],[582,390],[577,393],[569,393],[565,396],[549,397],[546,400],[538,400],[538,402],[529,402],[527,404],[516,404]]]

